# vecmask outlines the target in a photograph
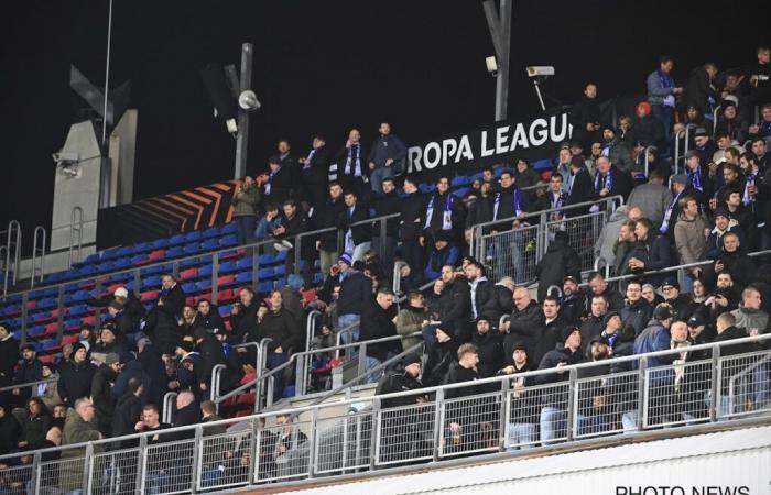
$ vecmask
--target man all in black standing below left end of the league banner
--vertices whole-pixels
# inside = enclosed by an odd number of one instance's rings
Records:
[[[404,194],[399,202],[399,239],[402,241],[402,260],[410,268],[413,286],[423,283],[423,243],[420,238],[425,223],[425,197],[417,189],[417,180],[413,176],[404,177]]]

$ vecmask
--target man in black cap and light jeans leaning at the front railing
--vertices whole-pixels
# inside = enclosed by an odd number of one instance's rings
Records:
[[[564,327],[560,334],[562,345],[549,351],[539,365],[539,370],[558,370],[563,366],[578,364],[585,361],[580,351],[580,330],[576,327]],[[569,373],[557,372],[537,375],[535,382],[540,385],[566,382]],[[541,408],[541,444],[547,446],[552,441],[562,437],[565,432],[565,421],[567,415],[568,394],[567,388],[550,387],[543,392]],[[582,425],[583,415],[578,415],[578,422]]]

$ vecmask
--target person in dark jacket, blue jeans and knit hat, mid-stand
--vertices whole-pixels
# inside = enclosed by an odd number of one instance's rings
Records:
[[[340,283],[340,295],[337,299],[337,318],[340,329],[349,329],[343,334],[344,343],[359,340],[359,323],[361,322],[363,305],[372,298],[372,282],[363,273],[351,268],[352,264],[350,254],[343,253],[336,265],[338,271],[337,278]],[[330,282],[334,282],[334,279]]]

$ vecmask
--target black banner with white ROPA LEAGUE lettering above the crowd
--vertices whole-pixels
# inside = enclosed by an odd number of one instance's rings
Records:
[[[431,141],[408,151],[408,173],[469,172],[486,165],[513,165],[556,156],[571,138],[567,113],[542,116],[526,122],[497,122],[477,131]]]

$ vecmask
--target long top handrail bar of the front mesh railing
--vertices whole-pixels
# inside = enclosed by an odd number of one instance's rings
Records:
[[[618,363],[623,363],[623,362],[629,362],[629,361],[648,361],[651,358],[659,358],[662,355],[669,355],[669,354],[680,354],[684,350],[687,352],[694,352],[694,351],[706,351],[706,350],[719,350],[727,346],[732,346],[732,345],[743,345],[748,343],[759,343],[759,342],[765,342],[765,341],[771,341],[771,334],[763,334],[763,336],[757,336],[757,337],[743,337],[740,339],[734,339],[734,340],[728,340],[724,342],[713,342],[713,343],[706,343],[706,344],[697,344],[697,345],[689,345],[687,348],[678,348],[678,349],[666,349],[663,351],[655,351],[655,352],[649,352],[645,354],[637,354],[637,355],[630,355],[630,356],[622,356],[622,358],[611,358],[607,360],[601,360],[598,362],[586,362],[586,363],[578,363],[578,364],[569,364],[565,366],[561,366],[558,370],[556,367],[550,367],[545,370],[535,370],[535,371],[530,371],[525,373],[520,373],[514,376],[511,375],[506,375],[506,376],[492,376],[489,378],[481,378],[481,380],[475,380],[473,382],[461,382],[461,383],[455,383],[455,384],[446,384],[446,385],[437,385],[433,387],[425,387],[425,388],[419,388],[415,391],[406,391],[406,392],[394,392],[391,394],[382,394],[379,395],[379,399],[390,399],[390,398],[399,398],[399,397],[409,397],[409,396],[414,396],[414,395],[431,395],[435,394],[439,391],[448,391],[448,389],[455,389],[455,388],[464,388],[468,386],[480,386],[480,385],[489,385],[489,384],[500,384],[503,382],[508,382],[511,380],[515,378],[526,378],[526,377],[532,377],[532,376],[541,376],[541,375],[553,375],[557,371],[562,373],[571,373],[579,370],[585,370],[594,366],[608,366],[612,364],[618,364]],[[765,351],[768,352],[768,351]],[[741,354],[734,354],[731,358],[736,358],[737,355]],[[664,365],[666,366],[666,365]],[[655,370],[656,367],[653,367],[652,370]],[[616,374],[611,373],[609,376],[615,376]],[[164,403],[167,402],[169,397],[172,395],[175,395],[176,393],[170,392],[165,395],[164,397]],[[349,399],[343,399],[339,402],[334,403],[334,406],[348,406],[348,405],[354,405],[356,403],[361,402],[360,398],[349,398]],[[305,411],[311,411],[314,409],[318,409],[318,407],[324,407],[324,406],[329,406],[328,404],[316,404],[316,405],[306,405],[306,406],[300,406],[300,407],[291,407],[291,408],[285,408],[285,409],[280,409],[280,410],[273,410],[273,411],[265,411],[265,413],[259,413],[254,414],[252,416],[247,416],[247,417],[241,417],[237,418],[237,421],[249,421],[249,420],[254,420],[259,418],[269,418],[269,417],[275,417],[275,416],[281,416],[281,415],[294,415],[298,413],[305,413]],[[207,422],[206,425],[187,425],[187,426],[181,426],[181,427],[173,427],[163,430],[162,435],[169,435],[169,433],[178,433],[183,431],[191,431],[197,428],[204,428],[204,427],[211,427],[211,426],[232,426],[234,419],[221,419],[218,421],[211,421]],[[165,421],[165,408],[164,408],[164,422]],[[158,435],[158,431],[149,431],[149,432],[142,432],[142,433],[132,433],[132,435],[127,435],[123,437],[115,437],[115,438],[108,438],[108,439],[102,439],[102,440],[94,440],[89,442],[80,442],[80,443],[73,443],[69,446],[62,446],[62,447],[53,447],[53,448],[46,448],[46,449],[39,449],[39,450],[29,450],[24,452],[15,452],[12,454],[3,454],[0,455],[0,462],[3,459],[15,459],[22,455],[33,455],[35,452],[54,452],[54,451],[63,451],[63,450],[68,450],[68,449],[83,449],[86,446],[100,446],[100,444],[108,444],[108,443],[115,443],[116,441],[124,441],[124,440],[137,440],[142,437],[148,437],[148,436],[155,436]]]

